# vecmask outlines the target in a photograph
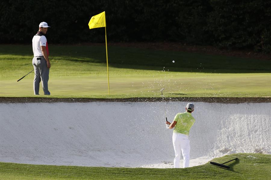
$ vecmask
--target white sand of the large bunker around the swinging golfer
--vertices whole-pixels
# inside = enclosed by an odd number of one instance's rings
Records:
[[[186,103],[166,102],[170,122]],[[190,166],[271,153],[271,103],[195,105]],[[1,162],[172,168],[171,136],[163,102],[0,104]]]

